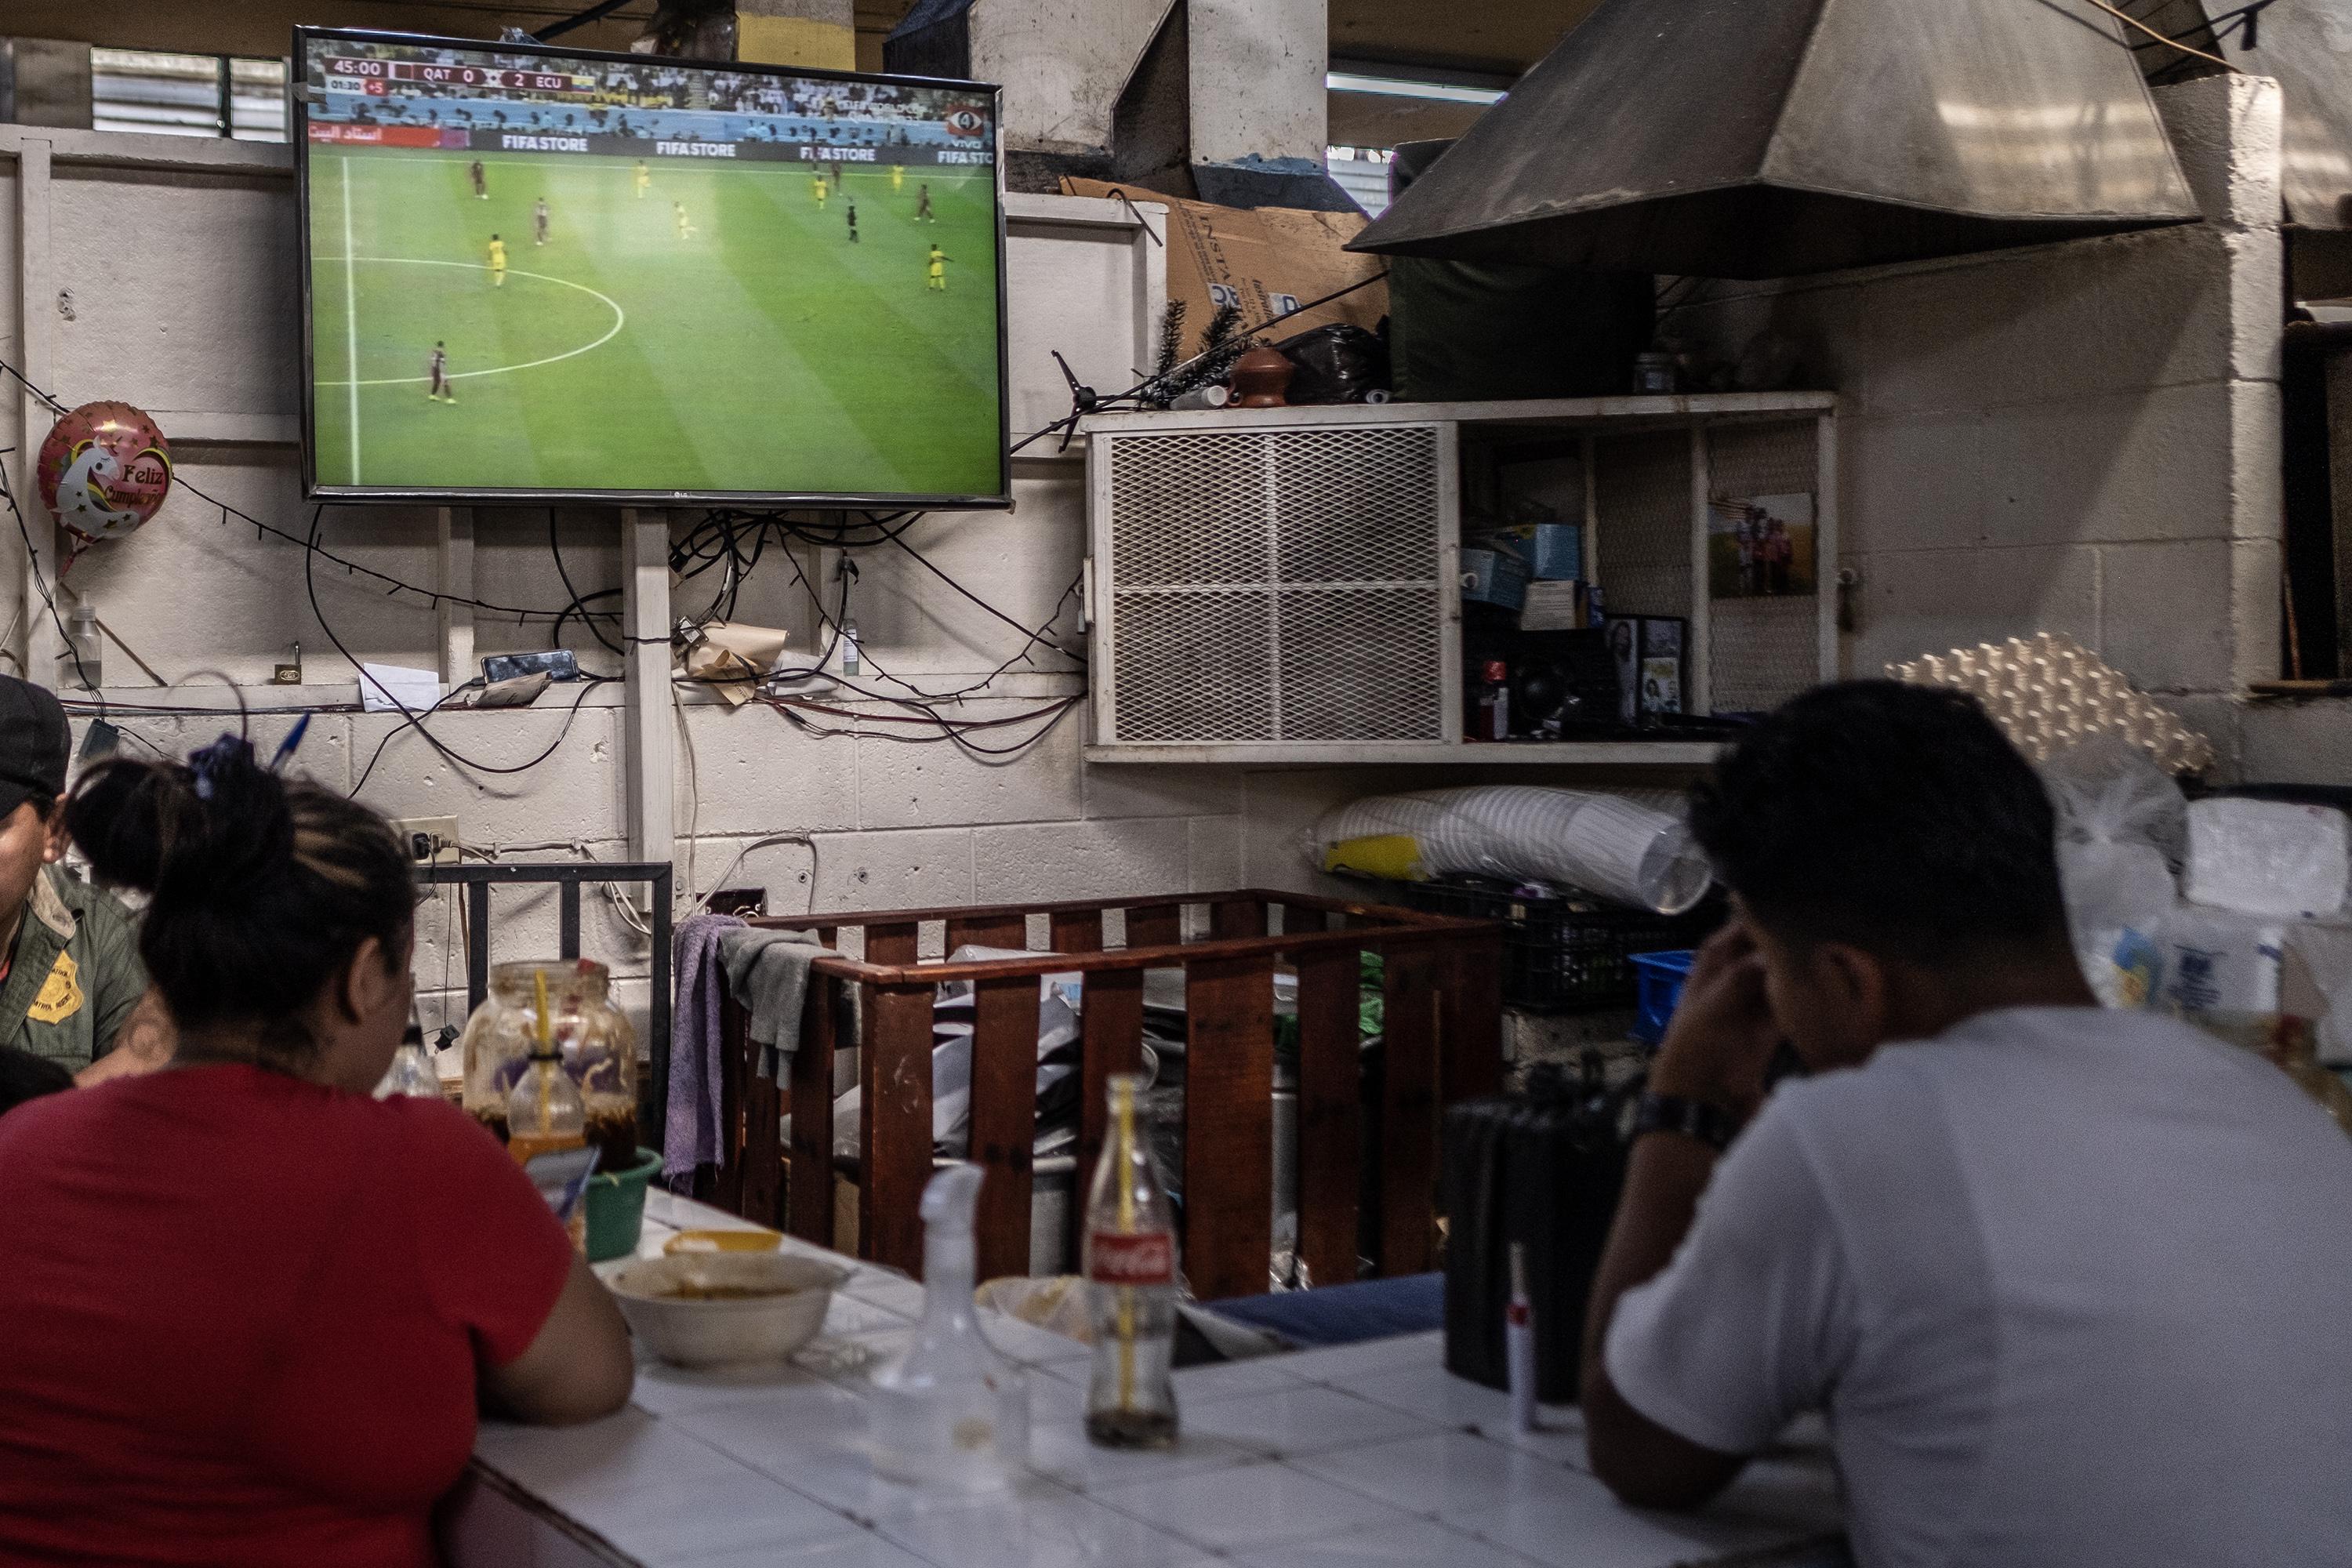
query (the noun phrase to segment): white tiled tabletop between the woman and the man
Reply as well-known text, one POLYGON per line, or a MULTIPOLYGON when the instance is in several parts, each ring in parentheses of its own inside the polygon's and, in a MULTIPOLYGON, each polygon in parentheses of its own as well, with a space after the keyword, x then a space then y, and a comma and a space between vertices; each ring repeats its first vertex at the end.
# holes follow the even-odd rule
MULTIPOLYGON (((739 1222, 654 1194, 644 1251, 673 1225, 739 1222)), ((866 1378, 906 1342, 922 1286, 818 1255, 851 1279, 793 1366, 644 1361, 635 1403, 593 1427, 485 1422, 449 1519, 454 1568, 1835 1561, 1818 1547, 1839 1521, 1818 1453, 1750 1467, 1705 1514, 1639 1514, 1585 1474, 1576 1410, 1512 1432, 1503 1394, 1446 1375, 1435 1333, 1176 1373, 1178 1446, 1112 1453, 1082 1429, 1087 1347, 990 1316, 1030 1368, 1033 1474, 993 1497, 880 1481, 866 1378)))

